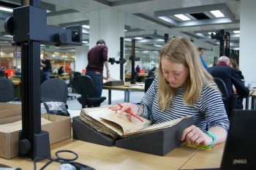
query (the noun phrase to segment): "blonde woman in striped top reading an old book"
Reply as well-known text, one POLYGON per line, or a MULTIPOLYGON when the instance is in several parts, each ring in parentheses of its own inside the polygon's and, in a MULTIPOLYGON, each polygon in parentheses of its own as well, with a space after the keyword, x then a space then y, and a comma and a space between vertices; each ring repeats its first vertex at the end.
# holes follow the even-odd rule
MULTIPOLYGON (((200 62, 197 49, 189 39, 172 39, 160 50, 159 77, 142 100, 109 109, 119 110, 120 114, 130 109, 152 123, 192 115, 193 125, 183 131, 181 140, 204 146, 225 142, 230 123, 222 96, 200 62)), ((132 121, 132 116, 129 119, 132 121)))

